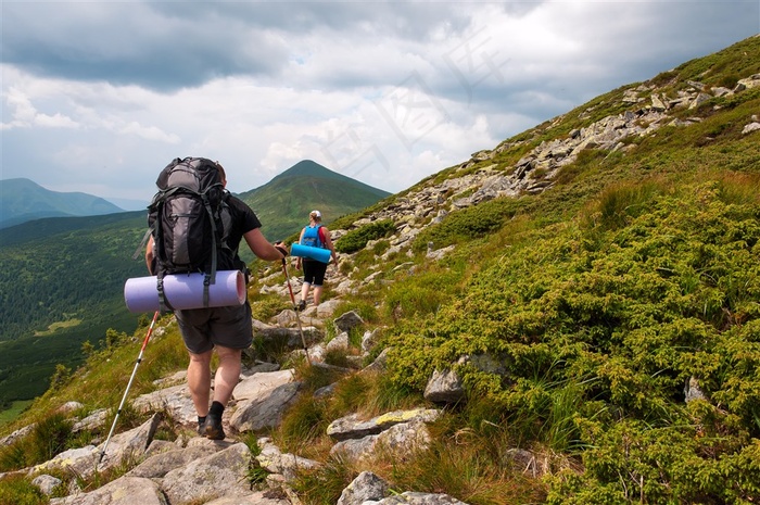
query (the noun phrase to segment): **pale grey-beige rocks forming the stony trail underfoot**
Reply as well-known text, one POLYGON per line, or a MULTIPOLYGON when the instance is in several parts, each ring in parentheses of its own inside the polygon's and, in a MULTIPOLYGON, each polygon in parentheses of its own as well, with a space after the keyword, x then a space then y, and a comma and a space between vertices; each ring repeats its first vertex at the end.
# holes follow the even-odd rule
MULTIPOLYGON (((308 348, 312 366, 325 366, 321 355, 328 349, 347 345, 347 331, 363 321, 355 313, 346 313, 332 320, 338 337, 328 344, 321 344, 325 321, 332 315, 338 299, 325 302, 319 307, 309 307, 301 313, 304 336, 311 342, 308 348)), ((266 339, 284 339, 293 352, 303 353, 301 334, 292 328, 296 313, 288 310, 276 319, 280 325, 266 325, 257 321, 256 331, 266 339)), ((172 318, 169 325, 176 324, 172 318)), ((154 338, 162 338, 166 327, 159 327, 154 338)), ((372 331, 364 336, 363 348, 369 351, 372 331)), ((382 367, 382 355, 364 369, 345 369, 344 373, 371 373, 382 367)), ((52 493, 61 480, 50 474, 61 471, 77 476, 73 479, 65 497, 51 498, 52 505, 96 505, 135 504, 141 505, 200 505, 200 504, 297 504, 299 498, 289 488, 299 470, 315 469, 320 463, 296 454, 282 453, 271 439, 257 440, 261 453, 253 455, 241 441, 246 432, 266 432, 275 428, 282 413, 300 394, 300 383, 293 369, 280 369, 274 363, 255 362, 245 367, 235 390, 232 401, 225 411, 223 424, 227 438, 221 441, 207 440, 197 435, 197 415, 185 381, 186 373, 180 371, 160 380, 157 389, 130 400, 135 409, 149 417, 141 426, 117 433, 111 439, 103 453, 104 441, 98 445, 87 445, 65 451, 53 459, 21 474, 35 476, 34 483, 43 492, 52 493), (180 435, 175 441, 155 438, 163 422, 180 425, 180 435), (123 477, 89 492, 78 488, 78 482, 91 479, 96 472, 104 474, 115 467, 134 466, 123 477), (251 471, 255 468, 266 472, 258 485, 252 485, 251 471), (54 471, 53 471, 54 470, 54 471)), ((213 386, 212 386, 213 387, 213 386)), ((330 394, 330 387, 314 394, 330 394)), ((81 407, 75 401, 66 403, 62 412, 73 412, 81 407)), ((438 418, 440 411, 417 408, 385 413, 371 419, 360 419, 356 415, 335 419, 328 428, 334 440, 331 454, 362 462, 371 457, 378 444, 390 447, 397 457, 418 450, 430 441, 426 424, 438 418)), ((103 433, 107 411, 100 409, 76 421, 74 431, 84 429, 103 433)), ((3 444, 23 437, 31 427, 17 430, 3 444)), ((371 472, 363 472, 343 493, 340 503, 460 503, 451 496, 403 493, 388 497, 388 483, 371 472), (400 501, 401 500, 401 501, 400 501)))

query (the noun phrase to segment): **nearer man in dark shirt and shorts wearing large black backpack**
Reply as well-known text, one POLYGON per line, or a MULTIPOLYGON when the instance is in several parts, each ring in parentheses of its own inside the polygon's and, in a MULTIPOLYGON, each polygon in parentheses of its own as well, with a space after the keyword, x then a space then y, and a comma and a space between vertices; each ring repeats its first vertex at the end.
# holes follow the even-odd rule
MULTIPOLYGON (((225 187, 227 178, 218 162, 202 157, 176 159, 156 181, 159 193, 149 207, 151 236, 145 264, 157 278, 162 305, 165 275, 205 273, 205 290, 216 272, 248 272, 238 255, 241 240, 266 261, 283 261, 288 251, 269 243, 261 222, 242 200, 225 187)), ((198 431, 212 440, 224 440, 221 415, 240 379, 242 351, 253 341, 251 305, 205 306, 173 310, 189 354, 188 387, 198 414, 198 431), (218 356, 211 397, 211 361, 218 356), (213 400, 211 406, 210 400, 213 400)))

